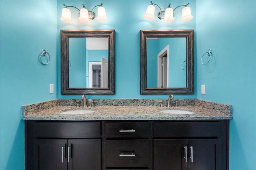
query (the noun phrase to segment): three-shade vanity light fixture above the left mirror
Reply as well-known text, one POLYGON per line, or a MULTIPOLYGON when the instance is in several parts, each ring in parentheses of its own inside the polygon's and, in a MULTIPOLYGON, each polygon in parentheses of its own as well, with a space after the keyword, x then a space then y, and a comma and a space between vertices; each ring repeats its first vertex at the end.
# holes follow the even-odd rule
MULTIPOLYGON (((71 11, 70 9, 68 9, 68 7, 73 7, 76 8, 75 6, 66 6, 65 4, 63 4, 65 7, 62 9, 62 17, 60 18, 60 20, 64 21, 64 22, 72 22, 71 19, 71 11)), ((81 8, 81 10, 79 10, 78 8, 76 8, 79 11, 79 18, 78 20, 82 23, 89 23, 90 20, 93 20, 95 18, 95 13, 93 12, 94 8, 98 7, 98 17, 96 18, 98 21, 107 21, 108 17, 106 16, 106 10, 105 8, 102 6, 103 3, 101 3, 100 5, 96 5, 92 8, 92 11, 88 11, 86 9, 86 7, 83 4, 83 8, 81 8)))

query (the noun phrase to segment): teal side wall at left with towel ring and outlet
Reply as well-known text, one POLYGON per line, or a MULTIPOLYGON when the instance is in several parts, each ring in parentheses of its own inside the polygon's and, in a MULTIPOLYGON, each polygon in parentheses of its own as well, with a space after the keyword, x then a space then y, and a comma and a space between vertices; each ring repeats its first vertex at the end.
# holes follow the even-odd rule
POLYGON ((56 8, 52 0, 0 0, 1 170, 24 169, 21 106, 57 97, 56 8), (38 59, 42 49, 51 57, 45 66, 38 59))

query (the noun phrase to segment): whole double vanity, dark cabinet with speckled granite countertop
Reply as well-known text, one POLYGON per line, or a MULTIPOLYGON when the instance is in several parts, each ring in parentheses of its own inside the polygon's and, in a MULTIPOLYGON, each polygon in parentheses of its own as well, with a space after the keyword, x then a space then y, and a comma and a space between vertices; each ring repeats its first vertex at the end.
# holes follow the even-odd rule
POLYGON ((232 106, 176 99, 168 108, 159 100, 98 99, 84 108, 82 100, 58 99, 22 106, 26 169, 228 169, 232 106))

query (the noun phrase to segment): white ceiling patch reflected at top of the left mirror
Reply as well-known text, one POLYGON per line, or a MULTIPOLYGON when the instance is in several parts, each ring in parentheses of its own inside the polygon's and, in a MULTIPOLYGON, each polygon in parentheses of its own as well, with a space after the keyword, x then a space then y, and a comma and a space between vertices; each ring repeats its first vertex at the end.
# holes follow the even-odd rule
POLYGON ((107 50, 108 38, 86 38, 86 49, 88 50, 107 50))

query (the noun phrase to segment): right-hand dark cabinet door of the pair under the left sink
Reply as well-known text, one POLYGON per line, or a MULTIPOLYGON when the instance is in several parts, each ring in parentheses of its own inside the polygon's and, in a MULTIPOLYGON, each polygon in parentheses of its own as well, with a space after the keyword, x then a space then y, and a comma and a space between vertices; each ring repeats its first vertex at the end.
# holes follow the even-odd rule
POLYGON ((100 139, 69 139, 68 170, 101 170, 100 139))

